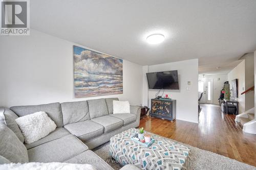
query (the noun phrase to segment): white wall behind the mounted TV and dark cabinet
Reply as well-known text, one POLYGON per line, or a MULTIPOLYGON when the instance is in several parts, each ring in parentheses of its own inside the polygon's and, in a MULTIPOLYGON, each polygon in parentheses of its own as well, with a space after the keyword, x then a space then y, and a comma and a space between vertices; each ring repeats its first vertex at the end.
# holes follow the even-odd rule
MULTIPOLYGON (((198 59, 148 66, 148 72, 178 70, 179 90, 165 90, 163 95, 177 100, 176 118, 198 123, 198 59), (191 85, 187 82, 190 81, 191 85)), ((147 85, 143 86, 147 89, 147 85)), ((155 98, 158 90, 148 90, 148 103, 155 98)), ((160 93, 162 94, 162 92, 160 93)), ((144 96, 143 96, 144 97, 144 96)))

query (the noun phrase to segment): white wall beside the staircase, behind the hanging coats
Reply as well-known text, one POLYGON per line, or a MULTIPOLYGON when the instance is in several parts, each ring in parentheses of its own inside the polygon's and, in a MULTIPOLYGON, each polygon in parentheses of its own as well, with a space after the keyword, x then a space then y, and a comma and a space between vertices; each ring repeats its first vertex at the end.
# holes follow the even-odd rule
POLYGON ((232 88, 231 82, 234 79, 238 79, 238 98, 239 102, 239 113, 243 113, 245 111, 245 95, 241 95, 241 93, 245 90, 245 61, 243 60, 239 63, 234 69, 232 69, 228 74, 228 82, 230 89, 232 88))

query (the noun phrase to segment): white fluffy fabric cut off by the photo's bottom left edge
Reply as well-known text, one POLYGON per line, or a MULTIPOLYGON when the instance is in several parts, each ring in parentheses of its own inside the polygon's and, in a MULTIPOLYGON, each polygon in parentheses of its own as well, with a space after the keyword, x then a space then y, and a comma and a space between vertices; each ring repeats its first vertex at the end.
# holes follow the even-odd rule
POLYGON ((0 165, 0 170, 96 170, 92 165, 89 164, 72 164, 72 163, 8 163, 0 165))

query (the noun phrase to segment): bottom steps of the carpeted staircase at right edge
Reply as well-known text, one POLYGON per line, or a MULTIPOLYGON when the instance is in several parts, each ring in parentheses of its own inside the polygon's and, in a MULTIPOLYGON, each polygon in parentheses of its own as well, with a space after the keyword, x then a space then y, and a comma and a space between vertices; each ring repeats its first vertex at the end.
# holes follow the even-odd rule
POLYGON ((243 125, 243 132, 256 134, 256 120, 254 117, 254 108, 236 116, 236 122, 243 125))

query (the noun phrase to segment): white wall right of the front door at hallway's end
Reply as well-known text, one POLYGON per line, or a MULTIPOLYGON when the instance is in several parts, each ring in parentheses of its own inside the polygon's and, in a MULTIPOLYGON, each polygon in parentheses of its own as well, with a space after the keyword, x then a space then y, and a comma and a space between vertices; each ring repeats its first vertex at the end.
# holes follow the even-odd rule
MULTIPOLYGON (((213 83, 213 92, 212 92, 212 97, 213 97, 213 103, 219 105, 219 97, 220 97, 220 91, 223 88, 224 82, 228 81, 227 79, 227 74, 223 75, 205 75, 205 79, 211 79, 213 83)), ((203 75, 199 75, 199 80, 203 80, 203 75)))

